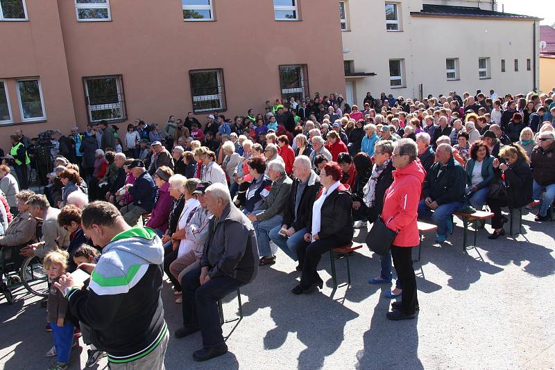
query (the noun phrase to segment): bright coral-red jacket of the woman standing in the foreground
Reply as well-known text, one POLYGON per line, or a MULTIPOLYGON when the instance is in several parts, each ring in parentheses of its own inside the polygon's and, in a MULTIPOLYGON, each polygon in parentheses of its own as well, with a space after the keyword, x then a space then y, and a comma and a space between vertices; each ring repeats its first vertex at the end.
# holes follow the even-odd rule
POLYGON ((393 184, 386 190, 382 220, 392 230, 399 230, 393 240, 397 247, 416 247, 418 233, 418 202, 426 172, 418 161, 393 171, 393 184))

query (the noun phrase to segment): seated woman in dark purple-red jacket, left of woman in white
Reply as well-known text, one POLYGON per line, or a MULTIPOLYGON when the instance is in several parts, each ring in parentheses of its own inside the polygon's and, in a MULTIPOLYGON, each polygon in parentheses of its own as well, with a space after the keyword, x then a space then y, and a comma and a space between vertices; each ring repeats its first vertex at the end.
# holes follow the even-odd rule
POLYGON ((171 211, 172 198, 169 194, 169 178, 173 176, 173 170, 168 166, 160 166, 154 173, 154 183, 158 190, 156 203, 145 226, 156 231, 158 236, 162 236, 168 228, 168 217, 171 211))

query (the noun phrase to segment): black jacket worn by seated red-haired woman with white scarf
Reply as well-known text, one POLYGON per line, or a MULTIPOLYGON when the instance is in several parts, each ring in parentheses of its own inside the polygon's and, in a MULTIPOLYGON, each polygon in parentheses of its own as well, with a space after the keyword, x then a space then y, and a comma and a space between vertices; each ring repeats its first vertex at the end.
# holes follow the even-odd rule
POLYGON ((320 214, 311 215, 307 232, 312 233, 312 218, 320 217, 320 231, 318 231, 320 239, 337 236, 343 240, 343 243, 350 243, 354 231, 351 208, 351 195, 341 184, 325 198, 320 214))

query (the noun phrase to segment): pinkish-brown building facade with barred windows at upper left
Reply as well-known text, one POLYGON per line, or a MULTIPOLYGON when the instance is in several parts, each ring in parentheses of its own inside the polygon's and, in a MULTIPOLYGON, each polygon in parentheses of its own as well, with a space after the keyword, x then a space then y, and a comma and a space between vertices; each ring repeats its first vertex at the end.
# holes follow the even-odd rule
POLYGON ((0 148, 17 129, 345 93, 334 0, 0 0, 0 148))

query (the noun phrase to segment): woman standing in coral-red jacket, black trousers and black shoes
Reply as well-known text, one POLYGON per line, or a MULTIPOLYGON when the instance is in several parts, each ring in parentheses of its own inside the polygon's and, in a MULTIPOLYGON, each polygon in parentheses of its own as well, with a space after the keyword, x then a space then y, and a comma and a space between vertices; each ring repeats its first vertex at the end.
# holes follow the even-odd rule
POLYGON ((411 139, 397 141, 393 149, 393 184, 386 190, 382 220, 389 229, 399 231, 391 245, 393 265, 403 290, 400 302, 391 304, 387 313, 391 320, 413 319, 418 310, 416 297, 416 276, 412 267, 412 248, 418 245, 418 202, 425 178, 425 170, 416 161, 418 147, 411 139))

